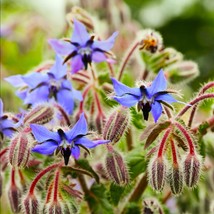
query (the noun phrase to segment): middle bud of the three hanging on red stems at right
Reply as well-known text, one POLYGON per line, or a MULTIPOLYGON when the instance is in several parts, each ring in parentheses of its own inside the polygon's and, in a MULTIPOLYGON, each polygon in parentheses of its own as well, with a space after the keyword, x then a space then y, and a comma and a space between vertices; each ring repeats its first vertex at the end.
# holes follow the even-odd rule
POLYGON ((178 165, 173 165, 173 167, 169 170, 168 180, 172 193, 179 195, 182 192, 184 185, 182 168, 178 165))

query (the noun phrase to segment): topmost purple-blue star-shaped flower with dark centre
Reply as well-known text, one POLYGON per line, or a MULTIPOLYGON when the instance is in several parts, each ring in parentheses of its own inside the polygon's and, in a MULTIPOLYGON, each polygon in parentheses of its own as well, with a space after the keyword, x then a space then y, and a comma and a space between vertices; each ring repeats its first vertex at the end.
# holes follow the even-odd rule
POLYGON ((66 56, 64 63, 72 58, 72 73, 88 68, 88 64, 109 60, 106 53, 113 47, 118 32, 114 32, 105 41, 94 41, 94 36, 88 34, 85 26, 74 19, 74 30, 71 40, 50 39, 49 44, 57 54, 66 56))

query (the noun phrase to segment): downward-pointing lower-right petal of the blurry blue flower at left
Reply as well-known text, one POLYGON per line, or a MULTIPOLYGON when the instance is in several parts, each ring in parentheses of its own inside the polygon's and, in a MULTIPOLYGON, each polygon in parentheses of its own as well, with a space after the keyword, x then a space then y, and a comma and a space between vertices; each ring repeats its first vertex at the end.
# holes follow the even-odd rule
POLYGON ((72 91, 60 89, 56 95, 57 101, 62 105, 68 114, 72 114, 74 109, 74 98, 72 91))

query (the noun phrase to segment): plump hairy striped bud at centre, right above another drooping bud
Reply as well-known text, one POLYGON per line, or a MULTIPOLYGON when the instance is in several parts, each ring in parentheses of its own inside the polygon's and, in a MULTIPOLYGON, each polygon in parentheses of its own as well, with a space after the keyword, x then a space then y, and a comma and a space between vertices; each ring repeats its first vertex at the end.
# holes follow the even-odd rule
POLYGON ((126 132, 131 121, 131 114, 128 108, 120 106, 108 117, 103 128, 104 140, 111 140, 117 143, 126 132))

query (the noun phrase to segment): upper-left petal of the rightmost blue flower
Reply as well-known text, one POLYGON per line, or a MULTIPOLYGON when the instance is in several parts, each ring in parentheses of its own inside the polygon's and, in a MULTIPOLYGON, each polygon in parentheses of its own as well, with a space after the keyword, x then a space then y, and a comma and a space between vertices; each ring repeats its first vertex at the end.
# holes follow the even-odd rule
POLYGON ((117 96, 122 96, 124 94, 132 94, 134 96, 142 96, 139 88, 130 88, 123 83, 117 81, 115 78, 111 78, 114 90, 117 96))

